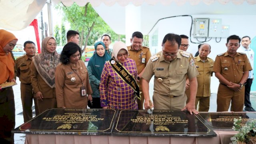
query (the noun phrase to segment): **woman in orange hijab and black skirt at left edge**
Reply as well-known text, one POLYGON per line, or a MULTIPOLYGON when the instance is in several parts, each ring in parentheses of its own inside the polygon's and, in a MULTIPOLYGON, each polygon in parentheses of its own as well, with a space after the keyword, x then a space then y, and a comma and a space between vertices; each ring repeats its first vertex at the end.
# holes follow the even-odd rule
MULTIPOLYGON (((0 30, 0 84, 16 82, 14 79, 14 58, 12 50, 18 39, 6 30, 0 30)), ((15 126, 15 103, 12 87, 0 86, 0 142, 14 144, 12 130, 15 126)))

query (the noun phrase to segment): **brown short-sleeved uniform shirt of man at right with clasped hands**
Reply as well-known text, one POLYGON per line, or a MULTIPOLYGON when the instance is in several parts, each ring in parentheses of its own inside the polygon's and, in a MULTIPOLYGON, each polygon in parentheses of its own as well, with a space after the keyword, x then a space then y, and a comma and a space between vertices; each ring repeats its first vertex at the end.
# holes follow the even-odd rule
POLYGON ((237 52, 232 57, 228 55, 228 52, 225 52, 216 56, 212 71, 220 72, 226 80, 238 84, 244 72, 249 70, 252 70, 252 67, 246 54, 237 52))

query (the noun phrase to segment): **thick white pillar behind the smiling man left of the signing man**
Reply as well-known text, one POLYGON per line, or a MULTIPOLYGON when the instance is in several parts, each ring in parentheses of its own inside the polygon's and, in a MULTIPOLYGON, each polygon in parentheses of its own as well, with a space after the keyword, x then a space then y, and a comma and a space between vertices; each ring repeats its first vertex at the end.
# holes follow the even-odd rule
POLYGON ((126 46, 131 44, 130 38, 132 38, 132 33, 141 30, 141 12, 140 6, 134 6, 133 4, 128 4, 125 7, 125 36, 126 36, 126 46))

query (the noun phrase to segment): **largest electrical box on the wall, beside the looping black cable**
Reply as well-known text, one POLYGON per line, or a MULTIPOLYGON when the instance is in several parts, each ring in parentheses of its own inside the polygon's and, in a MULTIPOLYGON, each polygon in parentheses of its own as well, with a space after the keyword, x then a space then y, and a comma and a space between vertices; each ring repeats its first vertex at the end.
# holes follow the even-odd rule
POLYGON ((194 37, 208 37, 209 18, 194 18, 194 37))

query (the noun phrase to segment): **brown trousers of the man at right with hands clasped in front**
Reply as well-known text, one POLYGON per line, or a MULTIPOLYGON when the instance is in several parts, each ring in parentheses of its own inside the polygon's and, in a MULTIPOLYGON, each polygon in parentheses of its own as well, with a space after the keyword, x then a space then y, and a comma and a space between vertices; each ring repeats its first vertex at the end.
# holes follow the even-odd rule
POLYGON ((244 108, 244 88, 240 92, 234 92, 227 86, 219 84, 217 93, 217 112, 226 112, 230 106, 230 111, 242 112, 244 108))

